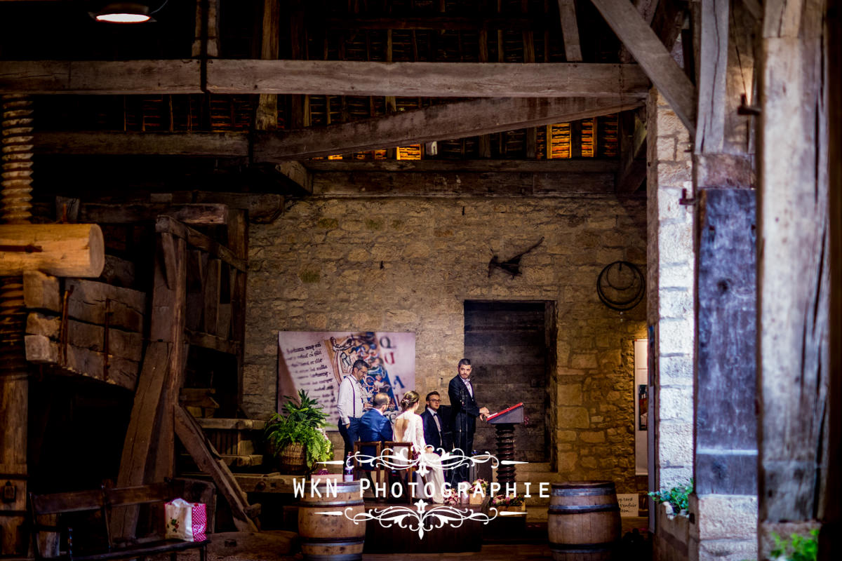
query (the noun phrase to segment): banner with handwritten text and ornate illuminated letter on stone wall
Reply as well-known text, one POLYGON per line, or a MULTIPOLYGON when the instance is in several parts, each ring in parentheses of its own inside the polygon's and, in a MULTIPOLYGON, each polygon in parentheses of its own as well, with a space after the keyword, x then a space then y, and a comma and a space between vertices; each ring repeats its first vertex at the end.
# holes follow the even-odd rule
POLYGON ((403 394, 415 389, 415 334, 374 331, 280 331, 278 333, 278 410, 285 395, 303 389, 338 423, 339 383, 357 359, 369 364, 361 384, 368 400, 389 395, 387 415, 397 413, 403 394))

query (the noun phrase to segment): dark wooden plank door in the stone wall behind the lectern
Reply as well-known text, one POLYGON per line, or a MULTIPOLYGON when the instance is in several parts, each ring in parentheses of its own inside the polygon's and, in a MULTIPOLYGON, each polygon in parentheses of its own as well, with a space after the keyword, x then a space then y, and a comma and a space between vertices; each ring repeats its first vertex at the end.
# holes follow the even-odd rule
MULTIPOLYGON (((524 403, 526 426, 514 431, 515 456, 546 462, 547 340, 552 304, 465 303, 465 357, 471 359, 477 400, 492 413, 524 403)), ((474 449, 496 453, 494 428, 477 421, 474 449)))

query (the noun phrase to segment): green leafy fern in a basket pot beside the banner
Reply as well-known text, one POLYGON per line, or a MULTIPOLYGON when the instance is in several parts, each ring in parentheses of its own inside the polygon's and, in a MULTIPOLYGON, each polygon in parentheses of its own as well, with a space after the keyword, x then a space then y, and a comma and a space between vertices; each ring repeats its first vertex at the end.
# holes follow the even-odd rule
POLYGON ((317 462, 333 458, 333 444, 324 431, 328 415, 304 390, 298 391, 297 400, 284 397, 283 413, 275 413, 266 422, 266 442, 278 456, 282 473, 312 472, 317 462))

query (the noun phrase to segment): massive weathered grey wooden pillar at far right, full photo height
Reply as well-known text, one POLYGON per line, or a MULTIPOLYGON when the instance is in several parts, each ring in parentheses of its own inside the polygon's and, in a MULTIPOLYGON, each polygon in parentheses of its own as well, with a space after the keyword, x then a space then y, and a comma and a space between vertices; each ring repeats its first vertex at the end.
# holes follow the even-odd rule
MULTIPOLYGON (((829 184, 824 0, 765 3, 760 41, 759 558, 806 533, 829 477, 829 184)), ((838 500, 834 498, 833 500, 838 500)))

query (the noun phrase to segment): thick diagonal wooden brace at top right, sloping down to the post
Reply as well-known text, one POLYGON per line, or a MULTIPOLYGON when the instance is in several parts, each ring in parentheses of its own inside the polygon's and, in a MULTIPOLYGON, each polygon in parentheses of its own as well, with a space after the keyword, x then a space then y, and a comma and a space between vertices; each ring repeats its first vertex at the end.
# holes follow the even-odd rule
POLYGON ((695 87, 628 0, 591 0, 675 114, 695 135, 695 87))

